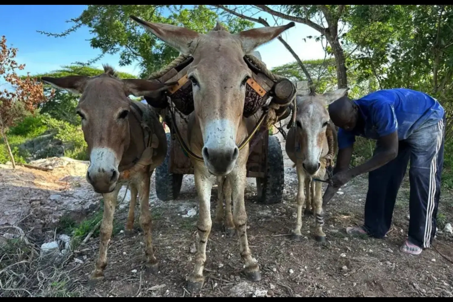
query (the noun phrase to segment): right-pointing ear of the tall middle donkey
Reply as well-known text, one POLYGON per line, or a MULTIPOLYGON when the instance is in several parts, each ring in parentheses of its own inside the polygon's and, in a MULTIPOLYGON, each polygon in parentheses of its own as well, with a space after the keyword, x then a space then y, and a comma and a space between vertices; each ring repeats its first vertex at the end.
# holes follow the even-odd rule
POLYGON ((249 29, 241 31, 235 36, 239 38, 242 43, 242 50, 244 53, 251 53, 258 46, 270 42, 270 40, 277 38, 286 29, 290 29, 295 24, 290 22, 283 26, 261 27, 258 29, 249 29))

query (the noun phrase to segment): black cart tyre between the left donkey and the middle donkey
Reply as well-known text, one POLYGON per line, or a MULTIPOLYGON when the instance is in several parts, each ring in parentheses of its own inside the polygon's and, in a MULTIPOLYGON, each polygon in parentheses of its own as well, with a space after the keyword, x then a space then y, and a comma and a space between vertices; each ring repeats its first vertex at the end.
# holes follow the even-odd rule
POLYGON ((156 195, 162 201, 169 201, 176 199, 181 191, 184 174, 169 173, 169 160, 171 148, 171 134, 166 133, 167 136, 167 155, 164 162, 161 163, 154 172, 156 175, 156 195))

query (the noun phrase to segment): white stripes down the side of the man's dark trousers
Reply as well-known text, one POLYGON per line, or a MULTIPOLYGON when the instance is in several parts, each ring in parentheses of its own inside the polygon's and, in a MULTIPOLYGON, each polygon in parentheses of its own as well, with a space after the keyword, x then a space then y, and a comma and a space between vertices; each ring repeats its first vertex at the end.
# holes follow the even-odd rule
POLYGON ((436 174, 437 174, 437 157, 442 145, 443 138, 443 120, 439 120, 437 124, 439 129, 439 134, 437 136, 436 144, 436 153, 434 153, 433 158, 431 159, 431 166, 429 169, 429 190, 428 190, 428 202, 426 205, 426 217, 425 217, 425 227, 424 227, 424 238, 423 238, 423 247, 429 247, 429 241, 431 240, 431 233, 433 231, 433 212, 435 207, 434 198, 436 196, 437 186, 436 186, 436 174))

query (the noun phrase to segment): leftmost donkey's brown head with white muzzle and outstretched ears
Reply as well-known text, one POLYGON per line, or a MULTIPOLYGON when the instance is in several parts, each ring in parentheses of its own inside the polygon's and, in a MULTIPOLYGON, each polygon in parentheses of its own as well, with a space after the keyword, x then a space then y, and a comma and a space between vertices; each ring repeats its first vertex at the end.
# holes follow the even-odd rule
POLYGON ((41 77, 41 80, 81 94, 77 114, 82 118, 82 131, 88 145, 90 166, 87 181, 97 193, 115 189, 118 166, 130 144, 129 95, 148 96, 169 87, 141 79, 119 79, 112 67, 95 77, 41 77))

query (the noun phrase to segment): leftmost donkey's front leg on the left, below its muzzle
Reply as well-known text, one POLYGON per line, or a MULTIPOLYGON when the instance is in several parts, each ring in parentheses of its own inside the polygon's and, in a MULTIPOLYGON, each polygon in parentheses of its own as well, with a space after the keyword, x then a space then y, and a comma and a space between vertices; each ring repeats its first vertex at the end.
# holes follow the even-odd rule
POLYGON ((120 192, 121 187, 122 185, 118 184, 113 192, 103 194, 104 215, 102 216, 101 229, 99 230, 99 256, 90 277, 91 284, 104 278, 104 268, 107 266, 107 245, 112 235, 116 198, 118 198, 118 192, 120 192))

